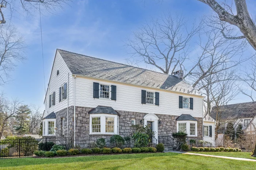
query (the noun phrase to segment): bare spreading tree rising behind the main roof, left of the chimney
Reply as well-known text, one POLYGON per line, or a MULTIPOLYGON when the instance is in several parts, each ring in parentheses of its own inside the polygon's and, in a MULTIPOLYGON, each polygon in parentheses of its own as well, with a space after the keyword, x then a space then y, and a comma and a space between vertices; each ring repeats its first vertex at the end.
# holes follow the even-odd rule
POLYGON ((190 52, 189 42, 199 29, 195 23, 189 29, 187 20, 179 15, 173 17, 167 13, 159 20, 152 18, 132 32, 132 39, 127 39, 128 54, 131 54, 128 63, 145 62, 165 74, 184 70, 183 63, 190 52))

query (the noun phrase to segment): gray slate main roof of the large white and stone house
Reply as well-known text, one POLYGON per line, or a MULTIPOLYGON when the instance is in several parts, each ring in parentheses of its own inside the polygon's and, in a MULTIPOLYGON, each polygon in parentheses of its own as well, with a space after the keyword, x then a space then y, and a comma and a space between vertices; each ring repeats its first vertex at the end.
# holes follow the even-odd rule
POLYGON ((195 88, 174 75, 57 50, 72 74, 200 95, 195 88))

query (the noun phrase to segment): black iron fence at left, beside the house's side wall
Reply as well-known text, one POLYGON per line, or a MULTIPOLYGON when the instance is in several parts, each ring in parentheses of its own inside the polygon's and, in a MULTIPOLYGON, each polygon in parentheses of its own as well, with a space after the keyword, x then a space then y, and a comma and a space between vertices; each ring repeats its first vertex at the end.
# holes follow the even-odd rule
POLYGON ((63 145, 66 150, 72 148, 71 138, 41 138, 0 140, 0 158, 30 157, 34 151, 49 151, 53 145, 63 145))

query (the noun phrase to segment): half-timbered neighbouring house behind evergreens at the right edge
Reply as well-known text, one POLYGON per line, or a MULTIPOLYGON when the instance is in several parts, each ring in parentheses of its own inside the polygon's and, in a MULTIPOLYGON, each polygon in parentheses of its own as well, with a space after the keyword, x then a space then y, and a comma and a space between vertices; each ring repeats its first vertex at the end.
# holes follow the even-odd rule
MULTIPOLYGON (((221 128, 219 128, 218 133, 225 134, 226 124, 227 122, 232 122, 234 129, 236 131, 239 123, 242 124, 243 130, 246 133, 255 134, 256 129, 256 102, 246 102, 246 103, 237 103, 237 104, 228 104, 222 106, 219 109, 221 113, 220 124, 222 124, 221 128)), ((216 119, 216 108, 212 108, 210 116, 216 119)))

